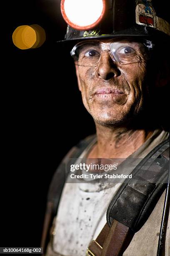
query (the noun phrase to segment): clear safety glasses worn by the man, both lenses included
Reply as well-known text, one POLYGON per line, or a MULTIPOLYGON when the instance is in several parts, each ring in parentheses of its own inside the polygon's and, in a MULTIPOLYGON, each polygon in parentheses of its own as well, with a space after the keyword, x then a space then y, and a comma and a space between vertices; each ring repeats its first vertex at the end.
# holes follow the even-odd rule
POLYGON ((76 44, 70 51, 75 61, 75 65, 83 67, 96 67, 100 61, 102 52, 107 51, 112 61, 121 65, 132 64, 150 59, 152 43, 145 40, 144 42, 121 40, 106 43, 99 40, 87 40, 76 44))

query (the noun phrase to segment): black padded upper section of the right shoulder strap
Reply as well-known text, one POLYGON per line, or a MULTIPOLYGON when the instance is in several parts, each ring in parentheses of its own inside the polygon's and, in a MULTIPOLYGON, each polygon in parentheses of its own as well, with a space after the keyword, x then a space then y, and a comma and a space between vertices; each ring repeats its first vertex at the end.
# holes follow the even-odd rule
POLYGON ((122 184, 107 209, 109 226, 115 219, 134 232, 140 230, 165 190, 168 159, 164 155, 167 151, 169 139, 155 147, 136 166, 132 172, 133 182, 129 179, 122 184))

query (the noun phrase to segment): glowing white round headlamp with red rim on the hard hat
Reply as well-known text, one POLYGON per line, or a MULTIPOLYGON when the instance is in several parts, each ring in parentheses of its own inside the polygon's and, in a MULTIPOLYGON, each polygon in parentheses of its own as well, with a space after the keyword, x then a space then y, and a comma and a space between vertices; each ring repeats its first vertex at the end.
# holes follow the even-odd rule
POLYGON ((61 0, 61 13, 69 26, 90 30, 105 13, 105 0, 61 0))

